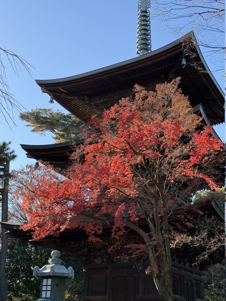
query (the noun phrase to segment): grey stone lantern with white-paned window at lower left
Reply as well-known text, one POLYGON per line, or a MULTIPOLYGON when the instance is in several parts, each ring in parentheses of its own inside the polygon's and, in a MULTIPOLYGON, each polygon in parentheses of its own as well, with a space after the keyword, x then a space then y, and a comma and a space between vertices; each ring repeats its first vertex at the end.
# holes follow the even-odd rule
POLYGON ((43 268, 36 266, 33 276, 42 279, 40 298, 37 301, 64 301, 65 282, 67 279, 74 279, 74 270, 68 269, 61 265, 59 251, 52 251, 50 264, 44 265, 43 268))

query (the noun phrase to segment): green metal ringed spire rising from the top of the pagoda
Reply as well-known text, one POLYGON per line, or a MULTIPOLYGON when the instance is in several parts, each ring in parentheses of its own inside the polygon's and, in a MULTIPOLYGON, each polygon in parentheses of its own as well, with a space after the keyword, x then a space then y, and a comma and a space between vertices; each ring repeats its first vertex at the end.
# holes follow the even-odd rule
POLYGON ((148 8, 150 0, 138 0, 138 23, 137 23, 137 55, 152 51, 151 44, 151 20, 148 8))

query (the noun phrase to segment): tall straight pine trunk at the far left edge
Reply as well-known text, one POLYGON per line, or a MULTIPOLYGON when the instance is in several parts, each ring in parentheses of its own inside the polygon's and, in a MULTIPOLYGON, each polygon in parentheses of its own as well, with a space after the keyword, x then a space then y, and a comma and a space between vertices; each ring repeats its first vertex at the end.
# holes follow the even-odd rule
MULTIPOLYGON (((9 174, 9 161, 6 162, 4 167, 4 174, 9 174)), ((3 188, 1 188, 1 196, 2 196, 2 222, 8 221, 8 185, 9 178, 6 176, 3 182, 3 188)), ((0 300, 5 301, 7 298, 7 281, 5 275, 5 261, 8 250, 8 237, 5 235, 5 229, 1 229, 2 234, 2 244, 0 251, 0 300)))

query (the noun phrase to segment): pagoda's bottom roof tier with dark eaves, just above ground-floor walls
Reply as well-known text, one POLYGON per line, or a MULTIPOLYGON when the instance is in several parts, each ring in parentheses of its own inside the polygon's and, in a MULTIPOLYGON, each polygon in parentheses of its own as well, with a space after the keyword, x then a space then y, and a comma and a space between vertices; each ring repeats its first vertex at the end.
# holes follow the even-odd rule
MULTIPOLYGON (((178 209, 175 210, 175 213, 178 209)), ((181 209, 180 209, 181 210, 181 209)), ((203 201, 198 204, 193 204, 187 207, 186 213, 190 216, 199 216, 200 211, 202 211, 205 216, 211 217, 216 216, 221 221, 224 220, 224 214, 219 209, 218 205, 214 200, 203 201)), ((180 213, 179 213, 180 214, 180 213)), ((178 219, 176 219, 178 221, 178 219)), ((172 222, 174 225, 174 216, 171 217, 169 223, 172 222)), ((15 222, 1 222, 2 228, 6 230, 7 237, 18 238, 21 240, 29 241, 32 239, 32 231, 23 231, 20 229, 20 223, 15 222)), ((148 229, 146 225, 146 220, 140 220, 139 226, 144 230, 148 229)), ((111 256, 108 253, 108 248, 115 244, 117 241, 115 238, 111 237, 112 222, 109 225, 103 227, 103 233, 100 234, 102 241, 99 242, 90 242, 86 233, 80 229, 67 229, 62 231, 57 237, 46 236, 41 240, 31 240, 30 243, 40 245, 44 248, 51 248, 59 250, 61 252, 67 253, 69 257, 76 257, 83 264, 92 264, 93 255, 102 254, 104 256, 105 264, 111 264, 120 262, 120 259, 111 256)), ((143 241, 141 237, 135 231, 128 231, 129 233, 123 238, 121 246, 138 243, 142 244, 143 241)), ((193 260, 197 255, 202 252, 201 248, 193 247, 190 245, 183 245, 181 249, 172 249, 172 259, 176 261, 180 260, 186 262, 186 260, 193 260), (193 259, 192 259, 193 258, 193 259)), ((98 255, 100 256, 100 255, 98 255)), ((208 266, 211 266, 215 263, 222 263, 224 259, 224 251, 217 250, 215 253, 210 255, 210 258, 204 260, 200 269, 206 269, 208 266)), ((180 262, 179 262, 180 263, 180 262)), ((192 261, 190 262, 192 263, 192 261)))

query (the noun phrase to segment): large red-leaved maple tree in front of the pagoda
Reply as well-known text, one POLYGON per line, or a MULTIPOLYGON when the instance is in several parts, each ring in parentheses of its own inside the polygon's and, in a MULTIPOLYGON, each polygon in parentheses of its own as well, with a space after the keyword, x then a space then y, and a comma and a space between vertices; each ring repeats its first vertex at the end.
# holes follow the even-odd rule
POLYGON ((170 301, 168 220, 176 206, 186 206, 187 196, 203 187, 217 189, 222 151, 212 129, 193 114, 179 82, 159 84, 154 92, 136 85, 134 100, 123 98, 93 121, 66 177, 50 172, 32 184, 22 203, 29 216, 23 228, 33 230, 34 239, 80 227, 98 241, 111 219, 117 239, 133 229, 143 244, 128 247, 148 254, 147 272, 162 299, 170 301), (140 218, 148 231, 139 226, 140 218))

